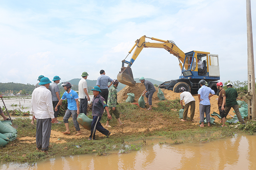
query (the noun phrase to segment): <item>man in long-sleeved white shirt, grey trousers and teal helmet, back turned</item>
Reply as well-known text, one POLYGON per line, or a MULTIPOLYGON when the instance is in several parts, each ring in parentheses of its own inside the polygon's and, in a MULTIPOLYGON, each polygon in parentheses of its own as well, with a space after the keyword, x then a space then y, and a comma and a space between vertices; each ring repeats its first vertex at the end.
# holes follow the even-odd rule
POLYGON ((35 134, 37 150, 47 152, 49 149, 52 123, 55 122, 52 106, 52 94, 48 90, 51 81, 49 78, 42 78, 39 85, 32 92, 31 113, 37 119, 37 132, 35 134))

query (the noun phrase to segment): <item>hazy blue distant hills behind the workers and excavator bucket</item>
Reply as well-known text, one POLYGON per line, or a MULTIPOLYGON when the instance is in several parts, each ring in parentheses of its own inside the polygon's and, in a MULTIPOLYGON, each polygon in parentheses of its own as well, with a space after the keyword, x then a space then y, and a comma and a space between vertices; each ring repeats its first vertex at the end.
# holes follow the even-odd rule
MULTIPOLYGON (((151 79, 151 78, 145 78, 145 79, 150 81, 151 83, 157 84, 157 85, 164 83, 162 81, 157 81, 157 80, 154 80, 154 79, 151 79)), ((79 81, 80 81, 80 79, 72 79, 72 80, 69 81, 69 83, 75 85, 75 86, 72 87, 73 90, 78 91, 79 81)), ((134 81, 136 81, 137 83, 140 83, 139 78, 134 79, 134 81)), ((97 80, 88 80, 88 79, 86 79, 86 82, 87 82, 88 91, 90 91, 94 86, 96 86, 97 80)), ((117 91, 122 90, 125 86, 126 86, 125 84, 119 83, 117 91)))

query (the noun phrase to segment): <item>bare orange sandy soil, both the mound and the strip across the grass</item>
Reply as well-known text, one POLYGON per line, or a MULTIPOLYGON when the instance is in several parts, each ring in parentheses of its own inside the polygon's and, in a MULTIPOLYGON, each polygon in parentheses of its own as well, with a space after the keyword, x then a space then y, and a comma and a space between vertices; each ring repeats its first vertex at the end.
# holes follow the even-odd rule
MULTIPOLYGON (((124 87, 124 89, 122 89, 121 91, 119 91, 117 93, 117 102, 125 102, 125 100, 127 99, 127 93, 134 93, 135 94, 135 100, 134 103, 138 103, 138 99, 139 97, 141 97, 142 92, 145 90, 145 86, 144 84, 141 83, 137 83, 136 84, 137 87, 133 88, 133 87, 129 87, 126 86, 124 87)), ((157 92, 158 92, 158 88, 156 88, 156 92, 154 93, 153 97, 152 97, 152 106, 153 107, 157 107, 157 102, 159 102, 159 99, 157 97, 157 92)), ((166 89, 161 89, 162 92, 164 92, 164 96, 166 97, 166 99, 168 100, 174 100, 174 99, 180 99, 180 93, 174 93, 173 91, 169 91, 166 89)), ((193 95, 195 100, 196 100, 196 111, 195 111, 195 115, 194 115, 194 123, 193 124, 199 124, 199 100, 196 95, 193 95)), ((211 113, 212 112, 217 112, 218 111, 218 105, 217 105, 217 99, 218 96, 214 95, 211 97, 211 113)), ((145 99, 146 101, 146 99, 145 99)), ((139 106, 138 106, 139 107, 139 106)), ((149 106, 146 105, 146 107, 148 108, 149 106)), ((146 108, 139 108, 140 112, 151 112, 151 111, 146 111, 146 108)), ((235 114, 233 113, 233 109, 231 109, 231 111, 229 112, 229 114, 231 114, 232 116, 234 116, 235 114)), ((167 125, 170 125, 170 122, 166 122, 165 120, 162 120, 161 116, 159 116, 158 114, 152 114, 152 117, 154 118, 152 120, 152 122, 150 122, 149 124, 144 123, 144 122, 140 122, 140 123, 134 123, 131 122, 130 120, 122 120, 122 116, 121 116, 121 120, 124 123, 124 125, 120 126, 120 125, 112 125, 112 123, 110 122, 110 125, 112 125, 112 127, 110 128, 106 128, 104 124, 103 127, 105 127, 106 129, 110 130, 111 135, 115 135, 115 134, 132 134, 134 132, 144 132, 144 131, 151 131, 151 130, 155 130, 155 129, 161 129, 167 125)), ((190 110, 188 112, 188 117, 190 117, 190 110)), ((231 116, 227 116, 228 118, 230 118, 231 116)), ((218 119, 217 116, 214 116, 214 118, 216 119, 215 122, 219 122, 220 119, 218 119)), ((70 118, 70 120, 72 121, 72 118, 70 118)), ((174 126, 176 127, 176 130, 184 130, 187 129, 189 127, 187 127, 187 125, 182 122, 179 121, 178 123, 176 122, 174 124, 174 126)), ((56 132, 54 130, 52 130, 51 132, 51 137, 50 137, 50 142, 54 142, 54 143, 65 143, 65 139, 78 139, 78 138, 89 138, 90 136, 90 131, 87 129, 84 129, 84 127, 82 127, 80 125, 80 129, 82 134, 79 136, 75 136, 76 131, 74 127, 70 127, 71 130, 71 134, 70 135, 66 135, 66 134, 62 134, 62 132, 56 132)), ((111 136, 110 135, 110 136, 111 136)), ((101 134, 100 132, 96 131, 95 134, 96 138, 97 137, 103 137, 104 135, 101 134)), ((22 137, 19 138, 18 140, 21 140, 22 142, 25 143, 35 143, 35 138, 33 137, 22 137)))

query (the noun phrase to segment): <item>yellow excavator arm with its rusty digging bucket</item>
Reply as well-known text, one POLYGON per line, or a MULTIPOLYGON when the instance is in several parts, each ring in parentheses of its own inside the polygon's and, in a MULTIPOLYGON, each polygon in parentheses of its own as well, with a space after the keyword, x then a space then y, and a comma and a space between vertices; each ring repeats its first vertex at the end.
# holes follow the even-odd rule
POLYGON ((179 60, 179 66, 182 69, 182 63, 184 63, 185 60, 185 53, 181 51, 176 44, 173 41, 169 40, 160 40, 157 38, 151 38, 147 37, 146 35, 142 36, 140 39, 135 41, 134 46, 129 51, 129 54, 126 56, 124 60, 122 60, 122 68, 119 74, 117 75, 117 79, 120 83, 126 84, 128 86, 135 86, 136 81, 134 81, 133 75, 132 75, 132 69, 131 66, 138 57, 139 53, 141 53, 141 50, 143 48, 164 48, 167 50, 170 54, 173 54, 176 56, 179 60), (149 38, 151 40, 159 41, 161 43, 150 43, 146 42, 145 39, 149 38), (125 59, 136 47, 134 53, 132 54, 132 58, 130 61, 126 61, 125 59), (124 64, 128 64, 127 67, 124 67, 124 64))

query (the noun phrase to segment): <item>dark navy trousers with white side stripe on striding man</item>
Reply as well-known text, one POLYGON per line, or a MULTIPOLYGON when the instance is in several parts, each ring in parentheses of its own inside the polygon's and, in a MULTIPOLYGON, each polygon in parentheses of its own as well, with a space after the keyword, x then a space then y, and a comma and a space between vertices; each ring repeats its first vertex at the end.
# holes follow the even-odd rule
POLYGON ((100 133, 104 134, 104 135, 108 135, 109 134, 109 130, 105 129, 101 123, 100 123, 100 116, 93 116, 92 117, 92 125, 91 125, 91 135, 90 138, 95 140, 95 131, 98 130, 100 133))

